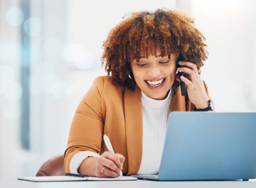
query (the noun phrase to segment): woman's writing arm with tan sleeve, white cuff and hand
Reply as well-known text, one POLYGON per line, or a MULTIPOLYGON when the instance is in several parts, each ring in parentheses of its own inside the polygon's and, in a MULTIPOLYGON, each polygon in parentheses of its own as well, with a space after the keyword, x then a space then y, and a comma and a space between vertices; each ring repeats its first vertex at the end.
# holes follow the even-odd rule
POLYGON ((100 76, 94 80, 77 107, 64 153, 66 172, 77 173, 78 170, 81 174, 107 178, 118 177, 123 169, 123 155, 109 151, 101 152, 104 132, 102 89, 103 78, 100 76), (87 157, 88 154, 92 157, 87 157))

